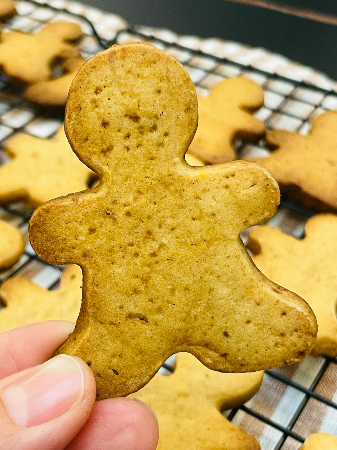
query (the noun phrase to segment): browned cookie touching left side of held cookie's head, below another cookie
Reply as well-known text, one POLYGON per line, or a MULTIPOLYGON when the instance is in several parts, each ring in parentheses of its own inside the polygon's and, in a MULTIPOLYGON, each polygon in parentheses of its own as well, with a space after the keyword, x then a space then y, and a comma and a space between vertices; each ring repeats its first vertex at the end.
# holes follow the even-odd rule
POLYGON ((26 99, 42 106, 64 106, 71 82, 84 61, 83 58, 67 59, 63 64, 67 70, 64 75, 28 86, 24 93, 26 99))

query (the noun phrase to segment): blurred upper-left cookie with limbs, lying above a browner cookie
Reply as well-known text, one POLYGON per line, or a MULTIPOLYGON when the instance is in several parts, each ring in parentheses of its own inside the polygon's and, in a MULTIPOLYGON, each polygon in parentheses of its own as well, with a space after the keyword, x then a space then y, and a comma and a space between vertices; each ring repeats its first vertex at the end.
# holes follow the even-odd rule
POLYGON ((53 22, 35 34, 9 31, 0 36, 0 66, 9 76, 37 83, 51 76, 56 58, 79 57, 80 51, 67 41, 82 36, 77 23, 53 22))

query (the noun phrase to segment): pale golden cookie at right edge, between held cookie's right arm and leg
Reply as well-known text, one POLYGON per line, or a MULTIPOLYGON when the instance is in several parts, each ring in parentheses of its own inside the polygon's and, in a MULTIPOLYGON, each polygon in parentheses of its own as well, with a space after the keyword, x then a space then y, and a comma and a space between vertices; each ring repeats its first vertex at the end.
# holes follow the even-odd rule
POLYGON ((315 313, 318 333, 314 356, 337 356, 337 216, 319 214, 296 239, 262 225, 252 229, 248 247, 253 261, 275 283, 303 297, 315 313))

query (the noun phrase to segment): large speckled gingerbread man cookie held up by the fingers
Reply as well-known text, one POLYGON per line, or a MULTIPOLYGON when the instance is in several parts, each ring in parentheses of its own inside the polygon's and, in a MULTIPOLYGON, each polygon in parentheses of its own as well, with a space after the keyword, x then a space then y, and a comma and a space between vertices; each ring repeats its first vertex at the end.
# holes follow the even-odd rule
POLYGON ((196 125, 191 78, 151 45, 114 45, 71 85, 66 133, 101 181, 37 208, 30 238, 46 261, 83 269, 80 316, 58 352, 90 363, 98 399, 135 392, 178 351, 249 372, 314 344, 309 306, 266 279, 239 239, 274 214, 275 180, 243 161, 188 166, 196 125))

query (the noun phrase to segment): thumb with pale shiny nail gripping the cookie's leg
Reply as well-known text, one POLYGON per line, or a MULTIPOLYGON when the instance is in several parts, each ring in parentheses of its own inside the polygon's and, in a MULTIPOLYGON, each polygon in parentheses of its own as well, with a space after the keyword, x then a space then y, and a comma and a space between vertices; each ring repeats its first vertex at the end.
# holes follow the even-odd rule
POLYGON ((63 450, 89 418, 95 380, 80 358, 58 355, 0 381, 0 450, 63 450))

